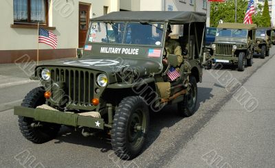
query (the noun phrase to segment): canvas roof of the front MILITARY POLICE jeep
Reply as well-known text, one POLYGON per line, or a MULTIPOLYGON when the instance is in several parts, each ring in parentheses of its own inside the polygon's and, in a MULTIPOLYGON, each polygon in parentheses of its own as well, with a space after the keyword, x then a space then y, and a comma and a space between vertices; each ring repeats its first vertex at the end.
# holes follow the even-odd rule
POLYGON ((206 14, 185 11, 122 11, 111 12, 91 21, 167 21, 169 23, 206 22, 206 14))

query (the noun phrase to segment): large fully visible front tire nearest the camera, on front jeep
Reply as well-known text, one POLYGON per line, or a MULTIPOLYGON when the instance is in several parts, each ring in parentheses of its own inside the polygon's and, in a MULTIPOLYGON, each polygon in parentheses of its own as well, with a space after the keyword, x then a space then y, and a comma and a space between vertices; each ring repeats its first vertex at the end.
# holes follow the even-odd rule
POLYGON ((115 154, 123 160, 135 158, 144 146, 148 125, 149 111, 144 99, 140 96, 122 99, 115 110, 111 130, 111 145, 115 154))

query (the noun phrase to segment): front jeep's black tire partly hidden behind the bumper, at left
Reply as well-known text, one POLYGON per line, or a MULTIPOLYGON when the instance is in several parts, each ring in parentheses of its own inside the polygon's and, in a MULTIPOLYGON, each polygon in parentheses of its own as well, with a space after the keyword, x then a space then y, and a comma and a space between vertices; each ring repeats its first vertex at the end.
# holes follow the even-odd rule
MULTIPOLYGON (((21 106, 28 108, 36 108, 42 104, 45 104, 44 88, 38 87, 30 91, 23 99, 21 106)), ((29 117, 19 116, 19 128, 23 136, 33 143, 45 143, 56 137, 60 125, 54 123, 42 123, 41 126, 33 128, 32 123, 38 123, 34 119, 29 117)))

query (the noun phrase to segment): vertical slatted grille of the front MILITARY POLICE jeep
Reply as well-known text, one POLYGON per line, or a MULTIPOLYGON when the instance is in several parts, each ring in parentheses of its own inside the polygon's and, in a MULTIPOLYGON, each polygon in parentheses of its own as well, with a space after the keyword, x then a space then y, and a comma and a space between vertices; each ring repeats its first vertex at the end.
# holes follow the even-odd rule
POLYGON ((73 104, 91 104, 94 97, 94 74, 85 70, 65 68, 50 69, 52 82, 65 82, 71 102, 73 104))

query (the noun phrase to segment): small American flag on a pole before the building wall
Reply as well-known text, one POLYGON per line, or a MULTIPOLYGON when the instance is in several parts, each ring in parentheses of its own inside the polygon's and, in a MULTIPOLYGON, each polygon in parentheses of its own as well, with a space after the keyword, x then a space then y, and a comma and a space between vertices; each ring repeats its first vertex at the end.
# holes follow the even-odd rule
POLYGON ((39 43, 45 43, 52 46, 54 49, 57 47, 57 36, 47 29, 39 28, 39 43))

